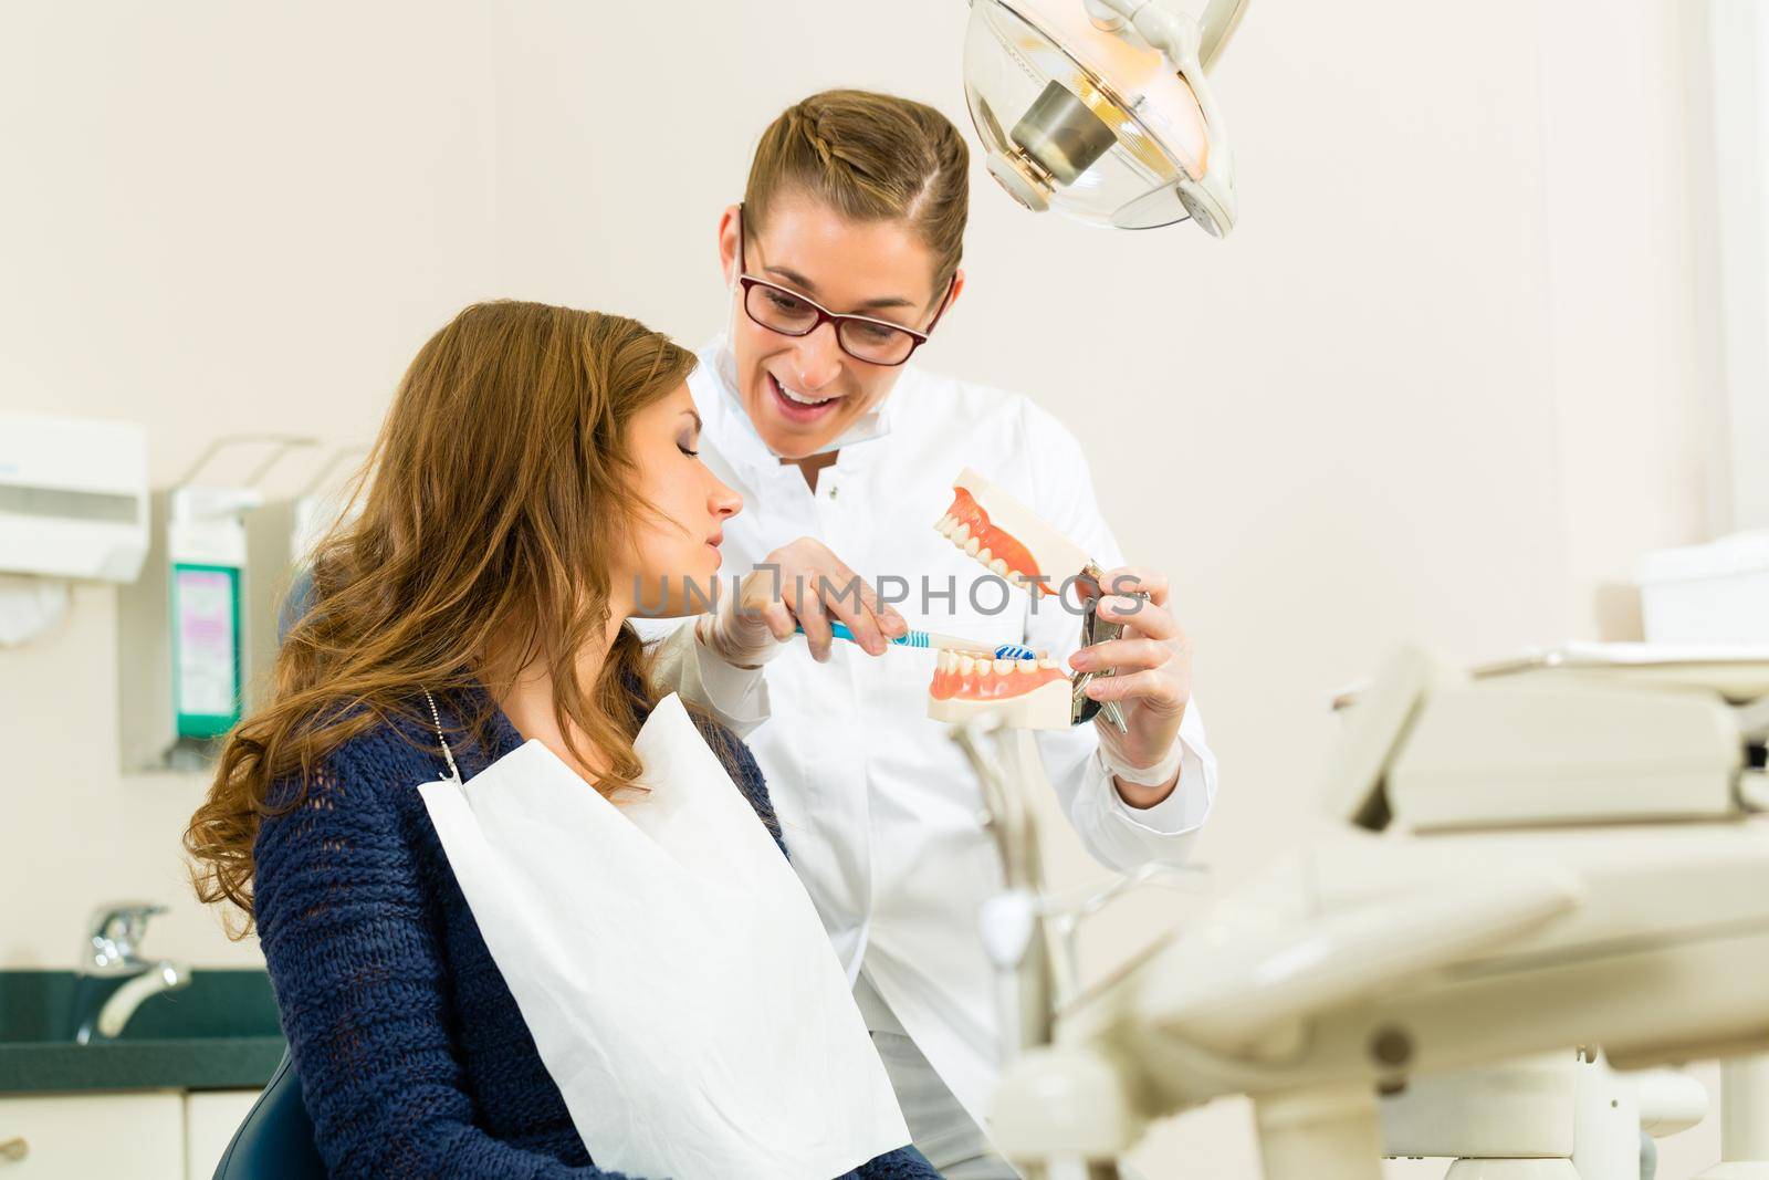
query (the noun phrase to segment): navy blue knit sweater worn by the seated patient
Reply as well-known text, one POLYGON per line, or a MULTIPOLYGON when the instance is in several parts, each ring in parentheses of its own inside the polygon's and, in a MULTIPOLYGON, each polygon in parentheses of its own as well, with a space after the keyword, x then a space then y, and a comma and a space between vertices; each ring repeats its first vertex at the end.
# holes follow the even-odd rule
MULTIPOLYGON (((472 695, 462 715, 485 704, 472 695)), ((775 828, 748 748, 702 732, 775 828)), ((471 778, 522 738, 492 708, 486 748, 449 745, 471 778)), ((258 831, 258 938, 320 1153, 333 1176, 619 1180, 584 1148, 449 870, 417 794, 444 771, 433 729, 375 725, 258 831)), ((297 787, 276 784, 272 803, 297 787)), ((915 1148, 849 1173, 938 1175, 915 1148)))

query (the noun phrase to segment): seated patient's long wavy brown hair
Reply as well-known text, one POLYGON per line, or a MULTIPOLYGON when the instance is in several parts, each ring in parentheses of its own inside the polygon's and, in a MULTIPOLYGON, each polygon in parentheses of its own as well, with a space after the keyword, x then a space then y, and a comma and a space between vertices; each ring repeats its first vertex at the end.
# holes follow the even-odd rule
POLYGON ((299 805, 338 745, 416 716, 419 688, 471 686, 494 644, 501 665, 511 647, 511 667, 547 662, 566 741, 575 727, 609 762, 598 789, 632 785, 640 639, 623 626, 593 685, 575 655, 605 635, 610 554, 647 511, 626 426, 692 368, 635 320, 536 303, 474 304, 417 352, 356 487, 361 515, 320 543, 267 701, 228 734, 184 833, 196 895, 244 911, 235 936, 272 784, 301 784, 276 812, 299 805))

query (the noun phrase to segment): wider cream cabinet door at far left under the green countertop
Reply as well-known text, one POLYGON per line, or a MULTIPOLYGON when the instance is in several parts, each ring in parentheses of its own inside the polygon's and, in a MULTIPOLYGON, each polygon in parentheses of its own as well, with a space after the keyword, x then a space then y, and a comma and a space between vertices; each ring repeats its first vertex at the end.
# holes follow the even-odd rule
POLYGON ((0 1099, 0 1180, 184 1180, 175 1092, 0 1099))

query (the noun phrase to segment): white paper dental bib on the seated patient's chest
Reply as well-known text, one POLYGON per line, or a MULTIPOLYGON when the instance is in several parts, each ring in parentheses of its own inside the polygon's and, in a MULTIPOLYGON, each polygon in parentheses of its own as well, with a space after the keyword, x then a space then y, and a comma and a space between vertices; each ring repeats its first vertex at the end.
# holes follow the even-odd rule
POLYGON ((907 1145, 810 899, 678 697, 635 748, 619 807, 532 739, 465 784, 444 743, 419 787, 596 1166, 831 1180, 907 1145))

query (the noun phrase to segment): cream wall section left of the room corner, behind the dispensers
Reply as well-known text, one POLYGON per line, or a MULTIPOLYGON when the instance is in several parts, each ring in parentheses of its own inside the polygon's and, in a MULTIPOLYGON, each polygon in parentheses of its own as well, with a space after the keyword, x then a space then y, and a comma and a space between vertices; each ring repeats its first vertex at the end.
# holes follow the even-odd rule
MULTIPOLYGON (((7 5, 0 407, 149 426, 172 483, 237 432, 356 439, 495 287, 490 18, 472 5, 7 5), (440 12, 437 19, 432 14, 440 12)), ((195 778, 119 777, 115 593, 0 651, 0 966, 69 966, 101 899, 257 961, 180 883, 195 778)))

